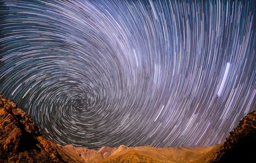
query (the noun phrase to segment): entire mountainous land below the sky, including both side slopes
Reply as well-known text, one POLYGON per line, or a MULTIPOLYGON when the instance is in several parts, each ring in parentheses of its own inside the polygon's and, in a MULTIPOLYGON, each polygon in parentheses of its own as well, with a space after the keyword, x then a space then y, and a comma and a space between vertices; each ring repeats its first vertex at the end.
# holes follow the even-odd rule
POLYGON ((211 147, 99 150, 47 140, 29 114, 0 95, 0 163, 239 163, 256 162, 256 112, 247 114, 223 144, 211 147))

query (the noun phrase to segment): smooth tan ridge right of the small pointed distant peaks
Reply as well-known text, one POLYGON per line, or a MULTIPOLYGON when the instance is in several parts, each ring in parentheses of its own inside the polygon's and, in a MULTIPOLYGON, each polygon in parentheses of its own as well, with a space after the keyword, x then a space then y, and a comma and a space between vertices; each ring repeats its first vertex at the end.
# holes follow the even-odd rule
POLYGON ((210 152, 212 148, 215 147, 129 147, 100 163, 191 163, 210 152))

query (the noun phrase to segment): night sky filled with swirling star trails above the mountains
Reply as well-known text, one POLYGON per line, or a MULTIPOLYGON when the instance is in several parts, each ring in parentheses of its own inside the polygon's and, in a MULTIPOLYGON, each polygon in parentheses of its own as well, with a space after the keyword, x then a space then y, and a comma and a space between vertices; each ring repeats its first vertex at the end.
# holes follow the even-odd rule
POLYGON ((253 0, 0 3, 0 94, 55 143, 213 146, 256 110, 253 0))

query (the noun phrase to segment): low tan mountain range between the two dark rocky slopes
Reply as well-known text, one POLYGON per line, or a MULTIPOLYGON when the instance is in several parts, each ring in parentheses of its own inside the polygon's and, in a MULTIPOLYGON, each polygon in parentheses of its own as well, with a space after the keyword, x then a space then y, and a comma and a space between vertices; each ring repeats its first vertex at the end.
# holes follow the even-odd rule
POLYGON ((209 152, 208 156, 210 156, 217 149, 216 146, 155 148, 151 146, 126 147, 121 145, 118 148, 102 147, 99 150, 75 148, 72 145, 62 147, 67 152, 72 151, 78 155, 81 154, 86 163, 170 163, 170 161, 171 163, 190 163, 209 152))

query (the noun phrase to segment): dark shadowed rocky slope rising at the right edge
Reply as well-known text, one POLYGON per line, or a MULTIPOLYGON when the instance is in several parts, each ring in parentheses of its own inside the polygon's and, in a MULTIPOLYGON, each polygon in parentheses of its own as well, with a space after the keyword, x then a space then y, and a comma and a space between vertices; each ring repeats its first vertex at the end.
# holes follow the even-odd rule
POLYGON ((239 125, 230 132, 224 144, 208 163, 256 162, 256 111, 247 114, 239 125))

